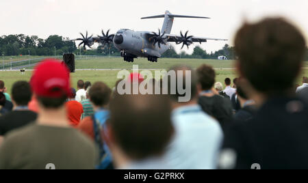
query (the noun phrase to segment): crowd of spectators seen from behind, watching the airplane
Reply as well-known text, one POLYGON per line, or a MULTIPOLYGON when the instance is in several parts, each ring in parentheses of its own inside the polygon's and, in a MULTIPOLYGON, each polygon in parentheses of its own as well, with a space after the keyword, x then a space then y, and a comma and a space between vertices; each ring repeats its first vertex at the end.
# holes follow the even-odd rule
POLYGON ((283 18, 245 23, 239 77, 223 85, 206 64, 170 68, 168 89, 189 77, 187 102, 178 88, 119 94, 122 81, 145 81, 138 73, 114 89, 79 80, 76 91, 60 61, 42 61, 11 95, 0 81, 0 169, 307 169, 308 78, 294 89, 305 45, 283 18))

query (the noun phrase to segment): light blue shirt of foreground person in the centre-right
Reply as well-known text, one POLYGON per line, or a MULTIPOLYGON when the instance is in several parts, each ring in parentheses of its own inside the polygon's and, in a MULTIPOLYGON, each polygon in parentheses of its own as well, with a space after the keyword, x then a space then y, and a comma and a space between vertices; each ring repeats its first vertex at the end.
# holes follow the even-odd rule
POLYGON ((166 169, 216 169, 223 133, 197 104, 172 112, 175 135, 165 154, 166 169))

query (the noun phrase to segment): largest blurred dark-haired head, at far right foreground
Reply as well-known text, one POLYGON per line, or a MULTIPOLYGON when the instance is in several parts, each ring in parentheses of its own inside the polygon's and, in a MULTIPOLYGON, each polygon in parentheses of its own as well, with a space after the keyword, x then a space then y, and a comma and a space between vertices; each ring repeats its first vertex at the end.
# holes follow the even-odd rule
POLYGON ((285 95, 300 72, 305 45, 302 33, 283 18, 245 23, 235 36, 238 71, 264 96, 285 95))

